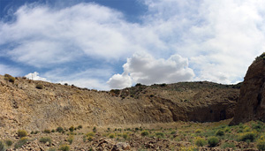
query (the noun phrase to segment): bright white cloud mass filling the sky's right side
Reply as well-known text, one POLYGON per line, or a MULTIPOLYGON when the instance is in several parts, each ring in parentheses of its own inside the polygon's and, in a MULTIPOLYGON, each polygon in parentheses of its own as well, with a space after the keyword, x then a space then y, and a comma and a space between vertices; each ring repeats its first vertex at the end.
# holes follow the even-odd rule
POLYGON ((147 0, 146 4, 155 34, 175 53, 190 58, 197 80, 242 80, 254 58, 265 51, 265 1, 147 0))

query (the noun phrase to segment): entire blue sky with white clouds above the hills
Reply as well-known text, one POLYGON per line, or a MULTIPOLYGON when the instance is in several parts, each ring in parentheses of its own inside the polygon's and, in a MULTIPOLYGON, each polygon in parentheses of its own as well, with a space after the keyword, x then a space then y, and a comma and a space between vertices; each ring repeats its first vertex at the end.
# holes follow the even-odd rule
POLYGON ((98 90, 243 81, 263 0, 0 0, 0 74, 98 90))

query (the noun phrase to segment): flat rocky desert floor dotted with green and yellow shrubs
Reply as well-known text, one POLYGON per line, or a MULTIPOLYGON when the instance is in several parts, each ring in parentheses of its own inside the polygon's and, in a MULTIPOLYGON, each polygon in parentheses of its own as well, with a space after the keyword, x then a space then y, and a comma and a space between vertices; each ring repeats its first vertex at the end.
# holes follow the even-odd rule
POLYGON ((246 124, 228 125, 230 121, 107 128, 71 126, 57 127, 55 132, 42 131, 36 134, 19 130, 15 135, 19 136, 19 139, 14 137, 1 140, 0 147, 25 149, 28 146, 37 146, 50 151, 100 150, 113 147, 123 147, 124 150, 265 150, 264 123, 251 121, 246 124))

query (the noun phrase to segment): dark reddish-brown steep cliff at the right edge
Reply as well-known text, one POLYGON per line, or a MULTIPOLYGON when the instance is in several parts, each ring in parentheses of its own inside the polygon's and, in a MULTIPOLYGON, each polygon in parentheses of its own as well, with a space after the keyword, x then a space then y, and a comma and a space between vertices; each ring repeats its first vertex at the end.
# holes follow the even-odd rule
POLYGON ((231 125, 251 120, 265 120, 265 59, 257 57, 246 72, 240 88, 239 102, 231 125))

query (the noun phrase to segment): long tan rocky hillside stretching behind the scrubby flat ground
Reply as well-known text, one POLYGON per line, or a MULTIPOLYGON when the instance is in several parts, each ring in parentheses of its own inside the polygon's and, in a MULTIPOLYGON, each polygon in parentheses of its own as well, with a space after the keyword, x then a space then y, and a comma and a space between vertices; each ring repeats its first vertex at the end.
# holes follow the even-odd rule
POLYGON ((0 130, 219 121, 234 116, 239 87, 205 81, 106 92, 0 75, 0 130))

